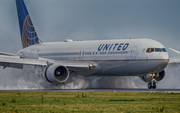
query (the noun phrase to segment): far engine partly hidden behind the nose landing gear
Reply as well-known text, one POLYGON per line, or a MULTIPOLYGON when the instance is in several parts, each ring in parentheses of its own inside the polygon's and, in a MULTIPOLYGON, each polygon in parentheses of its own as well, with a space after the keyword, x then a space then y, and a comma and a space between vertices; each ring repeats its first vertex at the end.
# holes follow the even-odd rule
MULTIPOLYGON (((165 70, 159 72, 158 74, 155 75, 154 79, 157 81, 157 82, 161 82, 164 77, 165 77, 166 73, 165 73, 165 70)), ((150 74, 147 74, 145 76, 140 76, 141 80, 144 81, 144 82, 151 82, 151 76, 150 74)))

